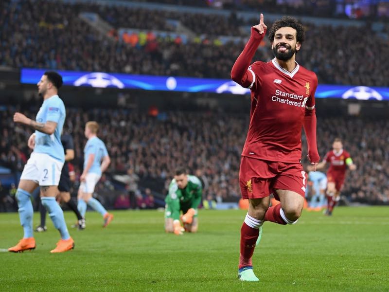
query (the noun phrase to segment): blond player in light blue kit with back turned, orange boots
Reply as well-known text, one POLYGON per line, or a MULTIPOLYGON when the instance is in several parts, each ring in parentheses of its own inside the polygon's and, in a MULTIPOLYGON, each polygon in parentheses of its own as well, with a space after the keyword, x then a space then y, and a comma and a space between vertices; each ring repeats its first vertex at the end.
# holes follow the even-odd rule
POLYGON ((85 125, 85 137, 88 138, 88 142, 84 148, 84 171, 80 177, 77 207, 82 217, 85 218, 88 204, 103 216, 103 226, 106 227, 112 221, 113 215, 109 214, 103 205, 92 196, 101 174, 106 171, 111 162, 106 145, 97 137, 98 130, 99 124, 96 122, 88 122, 85 125))

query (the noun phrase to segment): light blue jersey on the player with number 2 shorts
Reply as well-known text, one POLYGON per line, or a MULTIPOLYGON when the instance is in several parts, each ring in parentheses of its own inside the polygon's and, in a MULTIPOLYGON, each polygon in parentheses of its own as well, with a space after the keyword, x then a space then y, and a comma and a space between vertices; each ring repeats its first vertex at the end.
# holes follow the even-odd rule
POLYGON ((43 101, 36 114, 36 122, 45 124, 47 121, 51 121, 57 123, 57 127, 51 135, 35 130, 34 152, 46 153, 61 162, 65 162, 65 152, 61 143, 65 117, 65 105, 58 95, 53 95, 43 101))

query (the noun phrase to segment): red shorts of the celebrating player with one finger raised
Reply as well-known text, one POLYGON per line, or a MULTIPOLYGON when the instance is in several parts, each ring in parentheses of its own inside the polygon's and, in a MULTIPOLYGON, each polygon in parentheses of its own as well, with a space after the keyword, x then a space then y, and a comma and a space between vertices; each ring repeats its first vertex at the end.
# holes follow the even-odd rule
POLYGON ((243 199, 265 198, 275 190, 289 190, 305 197, 307 175, 300 163, 272 162, 242 156, 239 184, 243 199))

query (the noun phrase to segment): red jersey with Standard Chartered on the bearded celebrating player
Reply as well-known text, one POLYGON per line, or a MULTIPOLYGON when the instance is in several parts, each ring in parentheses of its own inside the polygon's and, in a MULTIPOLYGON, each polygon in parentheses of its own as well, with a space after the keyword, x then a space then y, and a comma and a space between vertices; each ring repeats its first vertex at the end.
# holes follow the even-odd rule
POLYGON ((275 59, 255 62, 250 125, 243 156, 296 163, 301 159, 301 129, 306 110, 315 108, 316 74, 296 63, 292 72, 275 59))

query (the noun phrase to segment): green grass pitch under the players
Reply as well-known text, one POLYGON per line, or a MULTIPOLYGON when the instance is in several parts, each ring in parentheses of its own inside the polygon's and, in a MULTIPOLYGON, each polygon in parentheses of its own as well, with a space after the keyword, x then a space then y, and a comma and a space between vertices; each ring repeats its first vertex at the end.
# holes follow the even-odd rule
MULTIPOLYGON (((201 210, 198 234, 177 237, 164 233, 162 212, 114 212, 106 229, 88 212, 87 229, 70 229, 75 249, 63 254, 50 254, 59 234, 48 218, 35 251, 0 253, 0 291, 389 291, 388 207, 338 207, 332 217, 304 211, 293 226, 266 222, 256 283, 237 279, 245 214, 201 210)), ((2 251, 16 244, 18 214, 0 213, 0 231, 2 251)))

